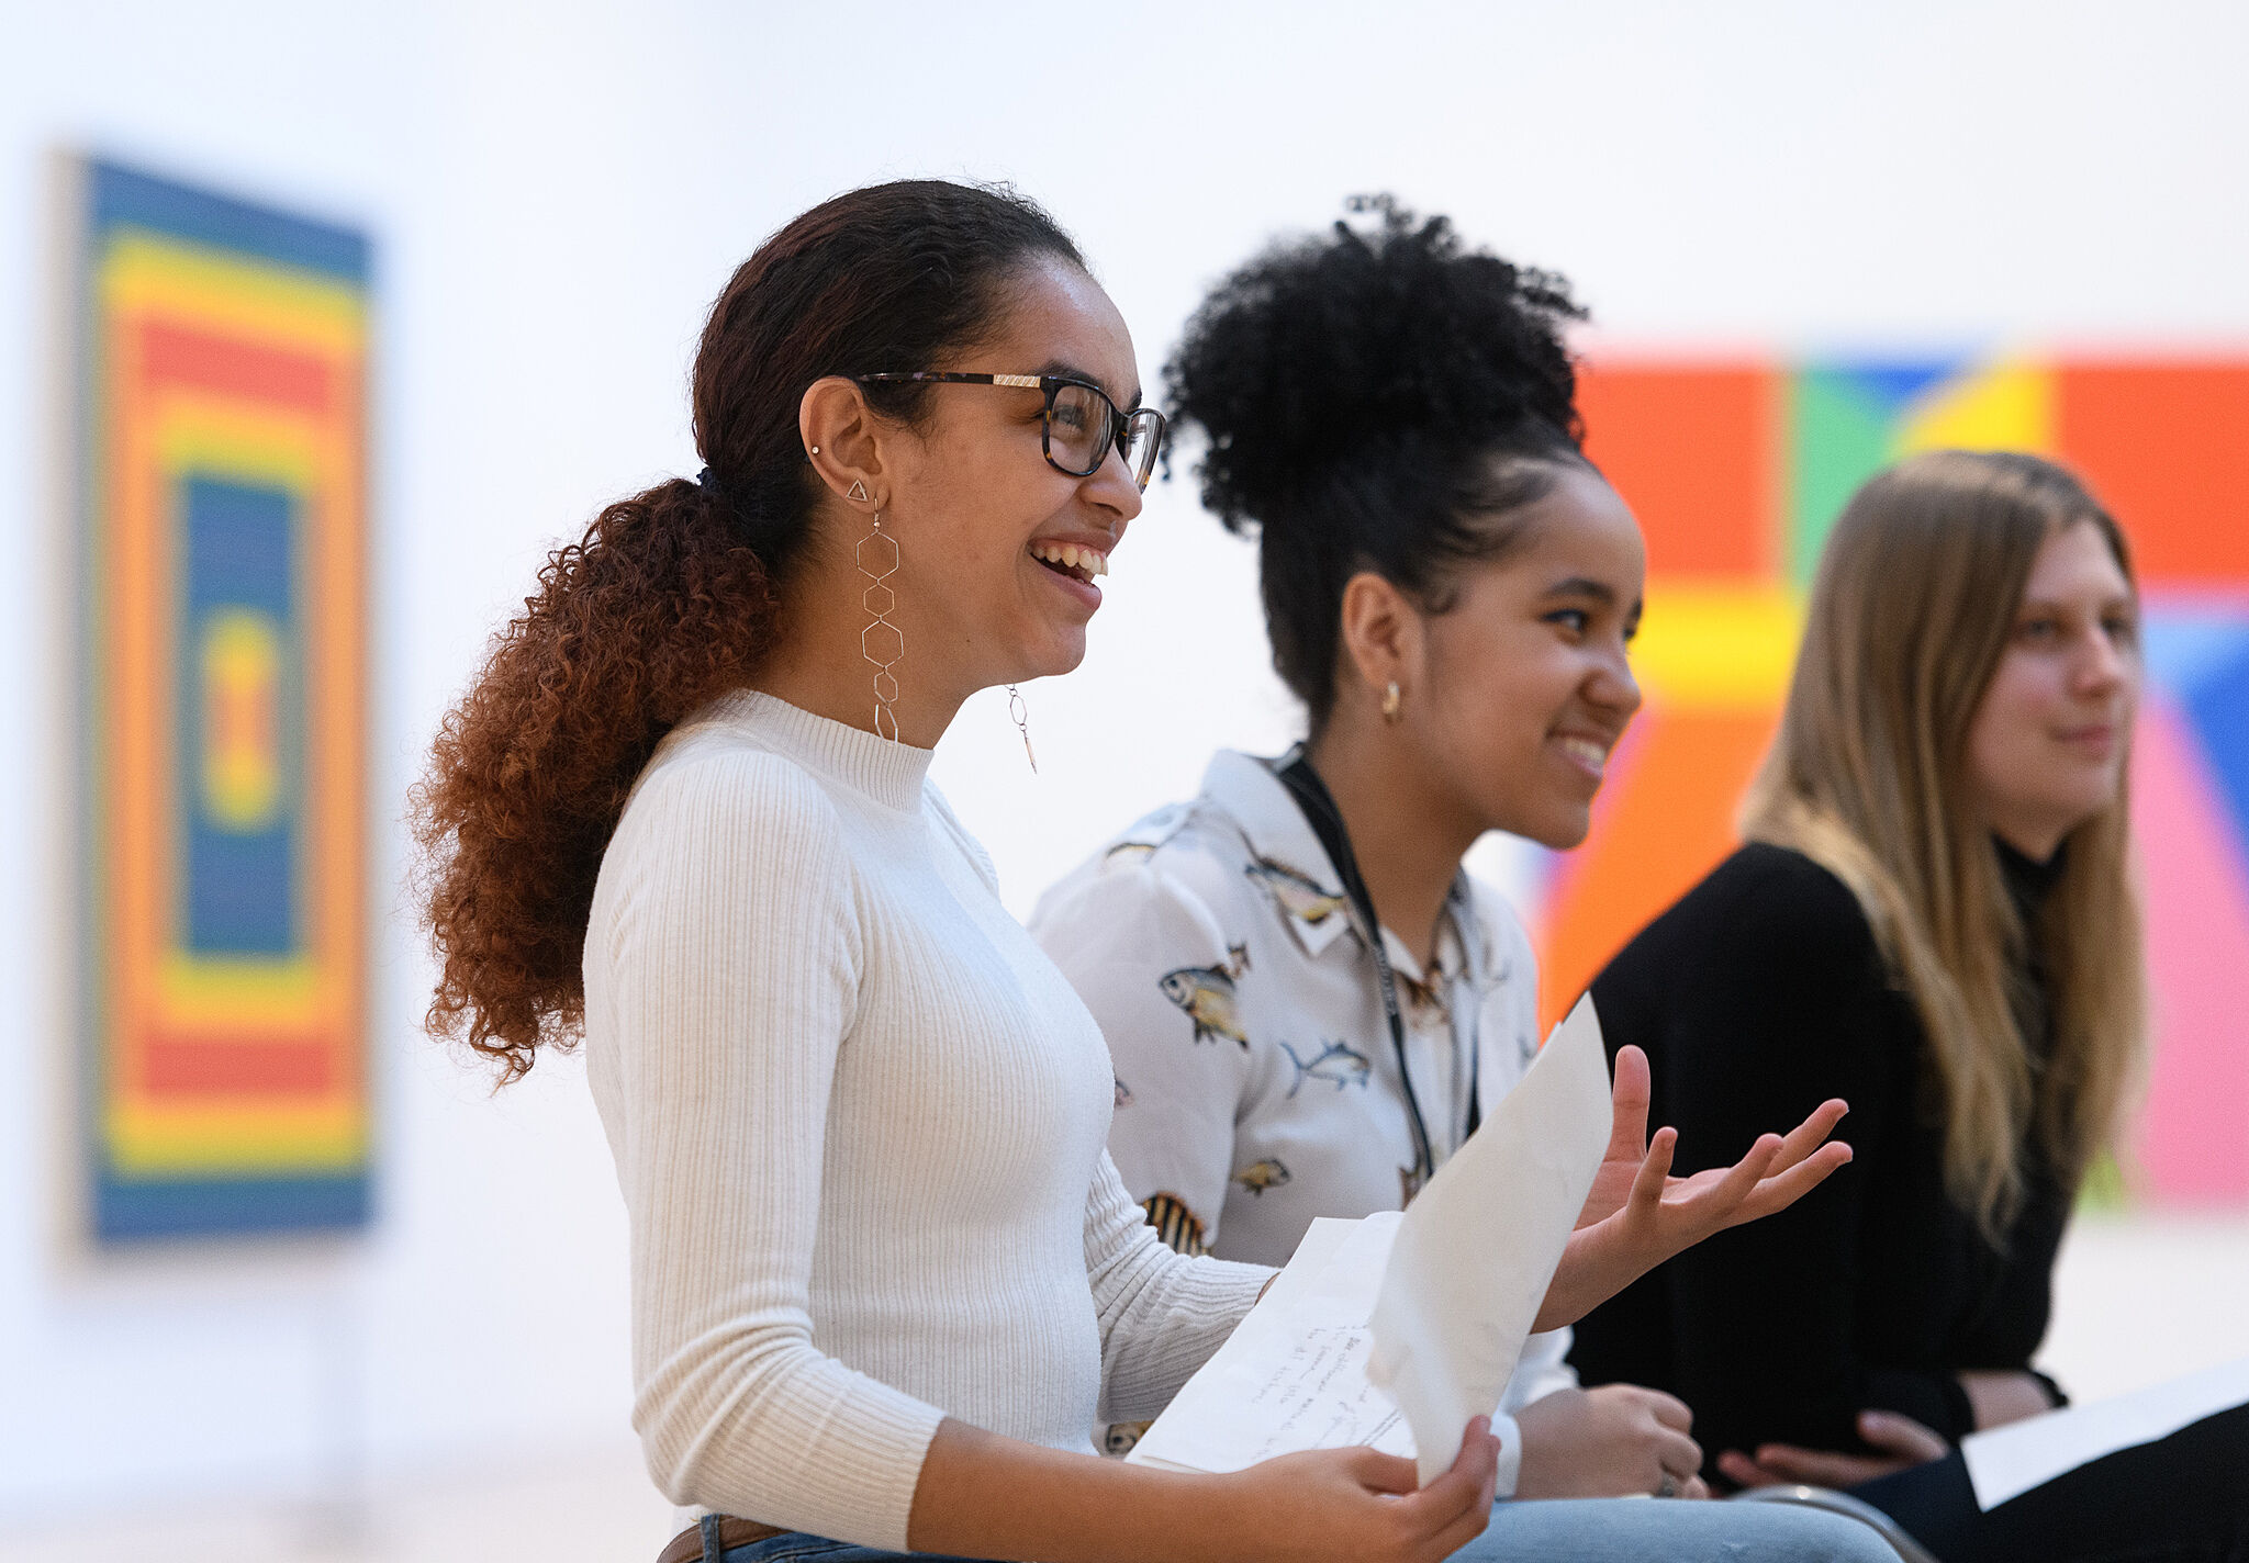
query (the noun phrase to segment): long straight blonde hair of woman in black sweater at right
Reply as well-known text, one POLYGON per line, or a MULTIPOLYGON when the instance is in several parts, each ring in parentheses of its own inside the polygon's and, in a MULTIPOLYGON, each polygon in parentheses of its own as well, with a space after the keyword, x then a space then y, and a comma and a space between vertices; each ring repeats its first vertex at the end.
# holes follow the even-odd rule
POLYGON ((2128 798, 2069 832, 2024 927, 1988 825, 1963 807, 1968 726, 2047 537, 2089 522, 2125 580, 2123 533, 2062 468, 1943 450, 1869 479, 1819 558, 1781 729, 1741 832, 1826 866, 1858 897, 1927 1035, 1945 1187, 1999 1237, 2035 1142, 2074 1185, 2107 1145, 2146 1043, 2128 798), (2047 978, 2053 1057, 2015 999, 2047 978))

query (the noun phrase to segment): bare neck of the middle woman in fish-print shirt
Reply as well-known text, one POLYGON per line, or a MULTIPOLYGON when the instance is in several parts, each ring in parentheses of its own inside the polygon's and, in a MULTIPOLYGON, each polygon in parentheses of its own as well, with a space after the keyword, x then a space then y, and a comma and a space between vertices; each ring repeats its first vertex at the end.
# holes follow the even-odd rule
POLYGON ((1403 747, 1385 731, 1352 731, 1343 713, 1304 749, 1327 783, 1343 828, 1352 837, 1358 877, 1374 915, 1406 940, 1415 960, 1430 965, 1444 900, 1460 875, 1462 855, 1482 834, 1473 821, 1412 771, 1403 747))

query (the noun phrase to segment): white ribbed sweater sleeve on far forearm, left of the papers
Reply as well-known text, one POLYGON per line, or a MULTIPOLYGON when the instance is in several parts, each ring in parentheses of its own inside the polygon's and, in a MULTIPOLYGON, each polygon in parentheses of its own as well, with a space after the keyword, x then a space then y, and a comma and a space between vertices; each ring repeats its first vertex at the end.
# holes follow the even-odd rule
POLYGON ((1210 1361, 1273 1277, 1165 1248, 1102 1154, 1086 1194, 1086 1280, 1102 1329, 1102 1421, 1154 1417, 1210 1361))

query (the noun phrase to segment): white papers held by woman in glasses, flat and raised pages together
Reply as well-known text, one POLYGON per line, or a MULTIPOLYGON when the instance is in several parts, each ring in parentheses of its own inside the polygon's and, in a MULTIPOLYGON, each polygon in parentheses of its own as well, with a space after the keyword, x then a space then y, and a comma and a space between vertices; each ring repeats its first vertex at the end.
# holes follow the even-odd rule
MULTIPOLYGON (((1401 1356, 1401 1381, 1442 1408, 1475 1406, 1424 1421, 1437 1428, 1446 1453, 1435 1471, 1444 1471, 1469 1417, 1500 1403, 1606 1145, 1608 1061, 1588 999, 1408 1212, 1311 1223, 1266 1295, 1127 1462, 1241 1471, 1354 1444, 1412 1460, 1410 1419, 1367 1372, 1374 1318, 1390 1300, 1419 1343, 1401 1356), (1401 1268, 1401 1235, 1417 1226, 1415 1259, 1401 1268)), ((1428 1480, 1430 1464, 1419 1464, 1428 1480)))

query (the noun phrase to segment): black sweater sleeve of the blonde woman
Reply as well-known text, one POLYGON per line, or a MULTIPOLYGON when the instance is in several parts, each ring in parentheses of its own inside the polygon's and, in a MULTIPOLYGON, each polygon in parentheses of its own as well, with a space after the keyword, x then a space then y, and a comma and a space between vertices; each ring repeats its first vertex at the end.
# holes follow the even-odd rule
POLYGON ((1667 1266, 1673 1388, 1696 1435, 1711 1457, 1759 1442, 1858 1451, 1858 1412, 1887 1406, 1957 1437, 1959 1385, 1864 1361, 1855 1327, 1869 1187, 1914 1088, 1909 1021, 1873 933, 1851 891, 1795 852, 1752 848, 1698 895, 1669 960, 1640 974, 1667 985, 1649 1050, 1678 1172, 1727 1165, 1828 1097, 1851 1104, 1837 1138, 1853 1163, 1667 1266))

